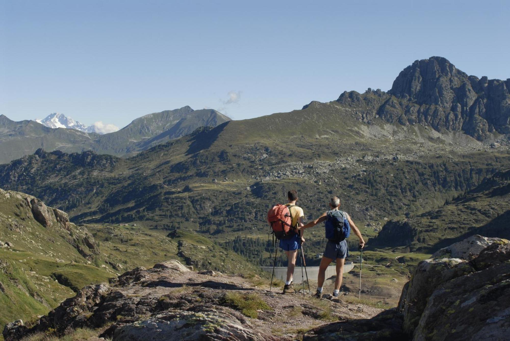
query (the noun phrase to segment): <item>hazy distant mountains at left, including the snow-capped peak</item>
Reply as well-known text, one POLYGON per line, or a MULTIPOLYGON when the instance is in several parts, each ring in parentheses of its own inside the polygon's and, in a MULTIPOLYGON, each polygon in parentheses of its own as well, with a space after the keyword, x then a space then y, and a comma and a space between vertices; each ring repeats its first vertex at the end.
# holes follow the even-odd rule
POLYGON ((40 122, 9 120, 0 115, 0 163, 7 163, 37 149, 129 156, 170 139, 187 135, 202 126, 217 126, 230 121, 212 109, 193 110, 189 106, 150 113, 124 128, 98 134, 97 127, 54 113, 40 122))

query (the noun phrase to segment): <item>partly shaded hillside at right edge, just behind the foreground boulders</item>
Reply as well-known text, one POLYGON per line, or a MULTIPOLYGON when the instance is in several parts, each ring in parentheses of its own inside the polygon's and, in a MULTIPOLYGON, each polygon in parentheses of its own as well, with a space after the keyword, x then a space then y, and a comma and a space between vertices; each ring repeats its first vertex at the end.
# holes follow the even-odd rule
POLYGON ((389 221, 373 244, 433 252, 474 234, 510 238, 509 223, 510 169, 506 169, 438 209, 389 221))

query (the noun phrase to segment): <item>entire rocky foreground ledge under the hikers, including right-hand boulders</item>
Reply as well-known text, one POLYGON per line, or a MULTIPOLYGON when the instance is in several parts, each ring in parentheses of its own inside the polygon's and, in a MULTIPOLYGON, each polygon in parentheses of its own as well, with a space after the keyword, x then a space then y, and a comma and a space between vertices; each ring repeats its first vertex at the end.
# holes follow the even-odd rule
POLYGON ((388 310, 268 292, 260 278, 194 272, 177 261, 89 286, 6 340, 88 327, 97 340, 504 340, 510 331, 510 244, 473 236, 422 261, 388 310), (336 321, 336 322, 331 322, 336 321))

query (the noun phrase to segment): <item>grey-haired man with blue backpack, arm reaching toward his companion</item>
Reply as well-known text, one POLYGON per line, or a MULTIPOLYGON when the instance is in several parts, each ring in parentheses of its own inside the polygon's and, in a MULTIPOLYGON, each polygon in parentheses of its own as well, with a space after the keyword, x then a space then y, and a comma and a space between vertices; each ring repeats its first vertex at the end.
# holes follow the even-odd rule
MULTIPOLYGON (((350 230, 360 239, 360 248, 365 246, 365 241, 356 228, 356 225, 351 220, 350 216, 343 211, 340 211, 340 198, 334 196, 329 202, 331 210, 324 212, 319 218, 305 224, 300 229, 308 229, 317 225, 320 222, 325 222, 326 228, 326 249, 322 255, 322 260, 319 266, 319 275, 317 278, 317 298, 322 298, 322 285, 324 284, 324 277, 329 263, 336 260, 337 263, 337 278, 335 280, 335 290, 333 296, 338 297, 340 294, 340 287, 342 286, 342 276, 344 272, 345 258, 349 255, 347 248, 347 238, 350 235, 350 230)), ((298 228, 299 229, 299 228, 298 228)))

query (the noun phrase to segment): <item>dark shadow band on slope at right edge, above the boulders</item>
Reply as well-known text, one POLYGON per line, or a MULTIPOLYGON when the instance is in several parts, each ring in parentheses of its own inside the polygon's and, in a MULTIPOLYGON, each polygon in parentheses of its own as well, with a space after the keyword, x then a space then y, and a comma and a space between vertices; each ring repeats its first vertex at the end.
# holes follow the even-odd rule
POLYGON ((510 230, 508 230, 509 224, 510 224, 510 210, 506 211, 501 215, 498 215, 496 218, 492 219, 487 224, 480 226, 479 228, 475 228, 469 232, 466 232, 462 236, 443 239, 442 241, 432 246, 431 248, 432 252, 435 252, 443 247, 450 246, 453 243, 460 242, 461 240, 464 240, 473 235, 510 239, 510 230))

